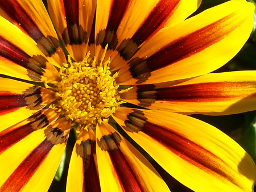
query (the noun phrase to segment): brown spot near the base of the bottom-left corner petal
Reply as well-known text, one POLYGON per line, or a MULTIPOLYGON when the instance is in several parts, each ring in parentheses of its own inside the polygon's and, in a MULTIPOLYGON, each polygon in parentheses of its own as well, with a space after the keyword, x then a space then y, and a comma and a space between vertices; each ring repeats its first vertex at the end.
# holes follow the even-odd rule
POLYGON ((64 135, 63 131, 59 128, 52 127, 51 125, 44 130, 44 135, 46 135, 46 140, 51 141, 53 145, 66 143, 68 140, 67 135, 64 135))

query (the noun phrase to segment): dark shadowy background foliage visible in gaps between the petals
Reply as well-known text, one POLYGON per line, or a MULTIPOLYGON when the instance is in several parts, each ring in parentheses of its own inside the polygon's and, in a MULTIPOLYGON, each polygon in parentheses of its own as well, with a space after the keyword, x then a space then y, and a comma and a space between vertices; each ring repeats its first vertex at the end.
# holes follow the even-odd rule
MULTIPOLYGON (((256 0, 247 0, 256 5, 256 0)), ((43 1, 46 2, 46 1, 43 1)), ((193 14, 199 14, 205 9, 219 5, 226 0, 203 0, 199 9, 193 14)), ((45 3, 46 4, 46 3, 45 3)), ((191 16, 193 16, 191 15, 191 16)), ((215 72, 228 72, 233 70, 256 70, 256 12, 254 14, 255 22, 253 32, 243 46, 241 51, 222 68, 215 72)), ((242 114, 225 115, 225 116, 206 116, 192 115, 197 119, 204 120, 209 124, 219 128, 227 135, 237 141, 256 161, 256 111, 245 112, 242 114)), ((69 137, 69 145, 66 150, 66 157, 62 161, 62 168, 59 169, 53 180, 49 191, 65 191, 65 183, 67 180, 68 164, 71 157, 73 145, 75 144, 75 133, 71 132, 69 137)), ((143 152, 139 146, 137 146, 143 152)), ((148 155, 145 153, 148 157, 148 155)), ((191 191, 181 183, 177 182, 173 177, 165 172, 152 158, 148 157, 156 170, 161 174, 171 191, 191 191)))

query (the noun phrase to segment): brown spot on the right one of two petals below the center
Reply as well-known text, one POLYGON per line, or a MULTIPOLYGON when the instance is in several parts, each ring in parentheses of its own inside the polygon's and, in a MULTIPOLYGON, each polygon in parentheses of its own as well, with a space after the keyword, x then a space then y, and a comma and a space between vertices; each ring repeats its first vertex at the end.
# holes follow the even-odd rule
POLYGON ((97 144, 103 151, 118 149, 120 142, 121 137, 117 132, 114 132, 111 135, 102 136, 100 140, 97 139, 97 144))

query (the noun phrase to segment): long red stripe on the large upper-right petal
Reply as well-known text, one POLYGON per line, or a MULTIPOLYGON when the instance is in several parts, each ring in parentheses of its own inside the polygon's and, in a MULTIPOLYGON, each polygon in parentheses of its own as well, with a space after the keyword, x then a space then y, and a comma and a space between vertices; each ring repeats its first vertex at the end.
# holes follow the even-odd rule
POLYGON ((200 30, 192 32, 191 34, 183 36, 175 42, 168 44, 165 48, 146 60, 147 67, 150 71, 163 68, 164 66, 171 65, 174 62, 199 53, 210 45, 217 43, 234 30, 235 27, 229 28, 225 26, 228 30, 223 28, 222 23, 230 17, 232 17, 232 15, 217 20, 200 30))

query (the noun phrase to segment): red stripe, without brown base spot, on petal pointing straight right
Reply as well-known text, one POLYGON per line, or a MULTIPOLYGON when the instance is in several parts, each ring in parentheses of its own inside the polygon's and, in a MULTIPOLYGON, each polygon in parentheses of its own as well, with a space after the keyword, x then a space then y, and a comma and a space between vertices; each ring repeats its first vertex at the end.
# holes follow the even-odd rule
MULTIPOLYGON (((253 87, 253 83, 209 82, 152 90, 157 91, 154 94, 154 99, 158 101, 217 102, 238 98, 241 97, 241 95, 246 94, 246 89, 242 90, 241 87, 253 87)), ((138 92, 139 91, 140 90, 138 89, 138 92)), ((144 92, 144 94, 145 93, 146 92, 144 92)), ((143 98, 143 93, 139 93, 139 95, 140 99, 143 98)))

